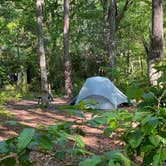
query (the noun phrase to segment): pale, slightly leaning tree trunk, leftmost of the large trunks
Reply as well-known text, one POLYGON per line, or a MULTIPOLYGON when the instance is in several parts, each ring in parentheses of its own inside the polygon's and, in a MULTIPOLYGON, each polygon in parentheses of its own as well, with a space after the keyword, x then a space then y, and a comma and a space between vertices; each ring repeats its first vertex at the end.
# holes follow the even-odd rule
POLYGON ((40 73, 41 73, 41 87, 42 87, 42 105, 47 107, 49 105, 48 100, 48 83, 47 83, 47 71, 46 71, 46 58, 43 42, 43 30, 42 30, 42 7, 44 0, 36 1, 36 15, 38 25, 38 53, 40 57, 40 73))

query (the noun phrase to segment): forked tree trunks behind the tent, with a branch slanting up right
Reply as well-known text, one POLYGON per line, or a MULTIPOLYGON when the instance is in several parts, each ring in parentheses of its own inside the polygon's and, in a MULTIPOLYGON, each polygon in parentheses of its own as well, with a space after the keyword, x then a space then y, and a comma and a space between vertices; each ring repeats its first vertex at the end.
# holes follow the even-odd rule
MULTIPOLYGON (((117 7, 118 1, 116 0, 100 0, 100 2, 103 8, 103 34, 102 34, 103 47, 102 48, 108 49, 109 65, 113 71, 113 69, 115 68, 115 48, 116 48, 115 33, 120 21, 124 17, 125 12, 128 10, 133 0, 125 0, 125 4, 121 10, 118 10, 117 7), (108 22, 110 25, 109 35, 107 32, 108 22), (109 40, 109 45, 107 44, 107 40, 109 40)), ((111 76, 111 79, 113 79, 113 74, 111 76)))

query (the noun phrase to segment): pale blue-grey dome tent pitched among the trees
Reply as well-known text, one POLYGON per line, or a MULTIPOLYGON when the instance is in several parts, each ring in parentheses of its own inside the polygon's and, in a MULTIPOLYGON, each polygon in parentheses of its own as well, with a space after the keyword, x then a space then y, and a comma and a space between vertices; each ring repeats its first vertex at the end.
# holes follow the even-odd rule
POLYGON ((82 86, 75 104, 80 102, 84 102, 87 108, 116 109, 128 100, 108 78, 96 76, 88 78, 82 86))

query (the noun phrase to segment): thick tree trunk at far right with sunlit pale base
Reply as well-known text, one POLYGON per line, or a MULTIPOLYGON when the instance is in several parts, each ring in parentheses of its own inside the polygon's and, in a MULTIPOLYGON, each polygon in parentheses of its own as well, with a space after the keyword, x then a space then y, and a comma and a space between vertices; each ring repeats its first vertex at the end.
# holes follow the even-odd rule
POLYGON ((163 56, 163 8, 162 0, 152 0, 152 32, 148 54, 148 75, 151 85, 157 85, 161 76, 154 68, 155 63, 163 56))

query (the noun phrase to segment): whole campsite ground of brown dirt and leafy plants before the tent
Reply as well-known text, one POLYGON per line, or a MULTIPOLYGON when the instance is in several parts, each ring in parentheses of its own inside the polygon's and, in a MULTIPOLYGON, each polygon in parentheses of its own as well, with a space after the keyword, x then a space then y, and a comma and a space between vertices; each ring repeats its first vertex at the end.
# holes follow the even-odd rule
POLYGON ((8 101, 1 111, 0 164, 162 166, 165 93, 144 93, 137 108, 114 111, 85 110, 83 103, 73 107, 60 99, 47 110, 34 100, 8 101))

